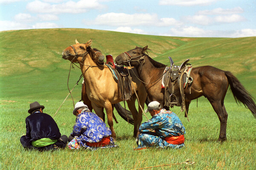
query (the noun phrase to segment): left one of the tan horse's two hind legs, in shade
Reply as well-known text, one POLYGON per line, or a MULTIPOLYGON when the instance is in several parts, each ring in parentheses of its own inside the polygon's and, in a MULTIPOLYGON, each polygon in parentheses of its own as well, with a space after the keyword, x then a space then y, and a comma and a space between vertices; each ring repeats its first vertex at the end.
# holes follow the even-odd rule
POLYGON ((136 96, 133 95, 132 98, 127 102, 128 108, 131 111, 132 117, 134 118, 134 138, 137 136, 138 132, 138 111, 135 106, 136 96))

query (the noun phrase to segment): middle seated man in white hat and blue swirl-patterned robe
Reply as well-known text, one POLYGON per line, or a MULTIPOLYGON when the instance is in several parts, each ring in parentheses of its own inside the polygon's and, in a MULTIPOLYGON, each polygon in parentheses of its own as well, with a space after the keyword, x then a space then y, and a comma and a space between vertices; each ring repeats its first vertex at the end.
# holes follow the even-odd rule
POLYGON ((69 149, 98 149, 117 147, 111 137, 111 130, 106 127, 103 120, 95 113, 90 112, 87 105, 77 102, 73 114, 76 116, 76 124, 69 136, 69 149))

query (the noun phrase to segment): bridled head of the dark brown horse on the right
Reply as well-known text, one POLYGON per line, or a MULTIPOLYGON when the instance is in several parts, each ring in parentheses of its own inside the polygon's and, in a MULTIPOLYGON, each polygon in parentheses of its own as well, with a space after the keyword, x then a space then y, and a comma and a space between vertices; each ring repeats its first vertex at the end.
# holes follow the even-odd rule
POLYGON ((131 66, 138 66, 140 62, 144 59, 145 52, 147 52, 148 46, 145 46, 144 48, 137 47, 126 51, 119 56, 116 57, 115 61, 118 65, 131 65, 131 66))

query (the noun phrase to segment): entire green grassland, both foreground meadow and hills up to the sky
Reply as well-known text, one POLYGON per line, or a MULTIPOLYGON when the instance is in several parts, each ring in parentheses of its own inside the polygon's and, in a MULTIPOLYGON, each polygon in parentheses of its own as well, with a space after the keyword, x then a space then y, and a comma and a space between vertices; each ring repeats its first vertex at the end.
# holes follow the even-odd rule
MULTIPOLYGON (((149 149, 134 151, 133 126, 114 111, 119 123, 114 124, 118 148, 111 150, 26 151, 20 136, 26 133, 25 119, 29 103, 38 101, 53 116, 68 94, 67 76, 70 62, 61 58, 69 45, 93 40, 93 48, 103 54, 118 54, 136 45, 151 49, 149 56, 169 65, 189 58, 193 66, 212 65, 231 71, 256 97, 256 37, 189 38, 127 34, 90 29, 42 29, 0 32, 0 169, 248 169, 256 168, 256 119, 244 106, 239 106, 228 92, 225 106, 229 113, 227 142, 219 144, 219 120, 204 98, 192 101, 189 120, 179 107, 172 109, 186 127, 186 147, 180 150, 149 149), (192 165, 176 164, 187 159, 192 165)), ((73 88, 81 71, 71 71, 73 88)), ((73 91, 80 99, 81 85, 73 91)), ((55 116, 61 134, 69 135, 75 122, 73 103, 69 97, 55 116)), ((149 117, 149 115, 147 115, 149 117)), ((145 121, 143 116, 143 121, 145 121)))

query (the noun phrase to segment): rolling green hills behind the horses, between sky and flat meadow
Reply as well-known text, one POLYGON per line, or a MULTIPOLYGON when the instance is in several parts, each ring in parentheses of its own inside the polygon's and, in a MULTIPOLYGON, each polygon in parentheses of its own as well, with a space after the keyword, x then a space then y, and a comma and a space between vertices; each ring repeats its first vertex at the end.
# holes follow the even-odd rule
MULTIPOLYGON (((93 48, 113 57, 137 46, 148 45, 149 56, 169 65, 185 59, 196 67, 212 65, 233 72, 255 97, 256 37, 189 38, 128 34, 92 29, 35 29, 0 32, 0 98, 64 99, 70 62, 61 58, 69 45, 92 39, 93 48)), ((81 71, 71 72, 70 88, 81 71)), ((80 90, 74 96, 80 97, 80 90)))

